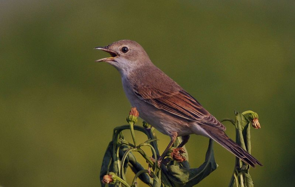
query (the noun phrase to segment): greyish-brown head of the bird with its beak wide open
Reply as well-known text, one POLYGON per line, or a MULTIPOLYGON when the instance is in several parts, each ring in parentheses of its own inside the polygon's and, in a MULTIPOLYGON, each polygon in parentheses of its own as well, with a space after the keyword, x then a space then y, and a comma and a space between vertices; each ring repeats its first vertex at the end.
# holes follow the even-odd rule
POLYGON ((103 50, 111 55, 111 57, 98 59, 95 62, 107 62, 116 67, 120 73, 130 72, 142 65, 151 63, 142 46, 131 40, 115 41, 108 46, 94 49, 103 50))

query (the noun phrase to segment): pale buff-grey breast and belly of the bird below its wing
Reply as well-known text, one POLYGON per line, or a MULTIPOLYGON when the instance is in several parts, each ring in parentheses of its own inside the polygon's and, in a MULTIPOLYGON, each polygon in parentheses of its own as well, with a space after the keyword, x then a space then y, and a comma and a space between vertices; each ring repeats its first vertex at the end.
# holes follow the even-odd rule
POLYGON ((137 95, 130 89, 128 83, 123 81, 124 92, 131 103, 132 107, 136 107, 139 117, 151 124, 154 128, 165 135, 172 135, 171 131, 176 131, 179 136, 190 135, 193 132, 190 129, 189 122, 175 115, 157 109, 155 106, 139 99, 137 95))

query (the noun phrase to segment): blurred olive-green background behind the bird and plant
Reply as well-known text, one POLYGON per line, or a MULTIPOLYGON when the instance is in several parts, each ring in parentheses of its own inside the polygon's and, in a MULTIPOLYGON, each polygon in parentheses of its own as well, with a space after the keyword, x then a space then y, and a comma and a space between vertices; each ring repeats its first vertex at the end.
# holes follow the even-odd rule
MULTIPOLYGON (((250 171, 255 186, 293 186, 294 9, 292 1, 1 0, 0 185, 100 186, 112 129, 127 124, 131 106, 116 69, 94 62, 108 54, 93 48, 131 39, 218 119, 257 112, 252 154, 264 167, 250 171)), ((169 138, 157 135, 163 151, 169 138)), ((207 143, 191 136, 192 167, 207 143)), ((215 157, 219 168, 198 186, 228 185, 234 156, 215 144, 215 157)))

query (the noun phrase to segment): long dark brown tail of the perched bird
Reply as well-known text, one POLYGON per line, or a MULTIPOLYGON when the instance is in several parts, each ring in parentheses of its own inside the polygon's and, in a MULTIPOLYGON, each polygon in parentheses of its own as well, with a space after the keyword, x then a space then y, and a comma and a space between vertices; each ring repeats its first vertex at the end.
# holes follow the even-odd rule
POLYGON ((210 138, 215 140, 225 149, 229 150, 235 156, 248 163, 252 167, 255 167, 256 164, 263 166, 256 158, 250 155, 247 151, 245 151, 241 146, 239 146, 236 142, 230 139, 224 131, 216 129, 214 127, 210 127, 207 125, 202 125, 202 128, 208 133, 210 138))

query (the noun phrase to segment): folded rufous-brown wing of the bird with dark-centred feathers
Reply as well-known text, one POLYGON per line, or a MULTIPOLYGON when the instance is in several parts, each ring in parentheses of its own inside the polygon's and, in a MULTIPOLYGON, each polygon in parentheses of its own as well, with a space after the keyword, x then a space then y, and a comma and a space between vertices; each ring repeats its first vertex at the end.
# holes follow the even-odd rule
POLYGON ((220 130, 226 129, 194 97, 183 89, 175 92, 143 87, 140 89, 133 88, 133 90, 140 99, 158 109, 165 110, 186 120, 196 121, 199 124, 219 128, 220 130))

